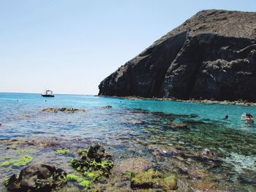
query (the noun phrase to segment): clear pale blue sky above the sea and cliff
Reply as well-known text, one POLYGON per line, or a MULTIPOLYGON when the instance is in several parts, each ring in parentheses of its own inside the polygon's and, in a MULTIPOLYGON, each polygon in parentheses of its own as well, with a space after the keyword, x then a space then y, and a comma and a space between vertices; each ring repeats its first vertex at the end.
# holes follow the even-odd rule
POLYGON ((202 9, 255 0, 0 0, 0 92, 97 94, 101 80, 202 9))

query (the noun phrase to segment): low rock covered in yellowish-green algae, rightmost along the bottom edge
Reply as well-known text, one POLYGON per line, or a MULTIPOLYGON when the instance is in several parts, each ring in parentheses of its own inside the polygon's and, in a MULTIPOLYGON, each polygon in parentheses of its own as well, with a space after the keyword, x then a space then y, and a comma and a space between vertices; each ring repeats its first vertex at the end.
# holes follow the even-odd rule
POLYGON ((148 171, 135 174, 135 176, 132 177, 131 188, 159 188, 162 191, 176 189, 176 174, 165 177, 164 174, 154 169, 148 169, 148 171))

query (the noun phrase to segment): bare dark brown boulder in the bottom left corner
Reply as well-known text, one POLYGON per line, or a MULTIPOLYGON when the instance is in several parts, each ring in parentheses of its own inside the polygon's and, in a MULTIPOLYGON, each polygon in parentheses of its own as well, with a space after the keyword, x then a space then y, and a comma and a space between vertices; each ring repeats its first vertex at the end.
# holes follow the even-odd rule
POLYGON ((22 169, 19 177, 12 174, 4 185, 9 191, 48 192, 66 183, 67 173, 64 170, 48 164, 32 164, 22 169))

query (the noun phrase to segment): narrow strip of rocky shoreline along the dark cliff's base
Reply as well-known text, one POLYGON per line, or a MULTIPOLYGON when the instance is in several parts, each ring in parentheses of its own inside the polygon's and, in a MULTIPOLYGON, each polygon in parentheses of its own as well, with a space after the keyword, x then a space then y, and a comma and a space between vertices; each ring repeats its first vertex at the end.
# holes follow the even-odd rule
MULTIPOLYGON (((97 95, 102 96, 102 95, 97 95)), ((244 107, 256 107, 256 103, 248 102, 248 101, 217 101, 211 99, 176 99, 176 98, 146 98, 140 96, 102 96, 102 97, 111 97, 116 99, 129 99, 133 101, 142 101, 142 100, 153 100, 153 101, 178 101, 178 102, 186 102, 186 103, 202 103, 202 104, 223 104, 223 105, 238 105, 244 107)))

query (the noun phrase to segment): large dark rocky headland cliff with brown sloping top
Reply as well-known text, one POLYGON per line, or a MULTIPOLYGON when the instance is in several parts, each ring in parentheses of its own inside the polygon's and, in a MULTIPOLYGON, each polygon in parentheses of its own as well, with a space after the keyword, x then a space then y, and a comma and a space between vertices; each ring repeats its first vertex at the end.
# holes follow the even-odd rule
POLYGON ((99 95, 256 101, 256 12, 198 12, 106 77, 99 95))

